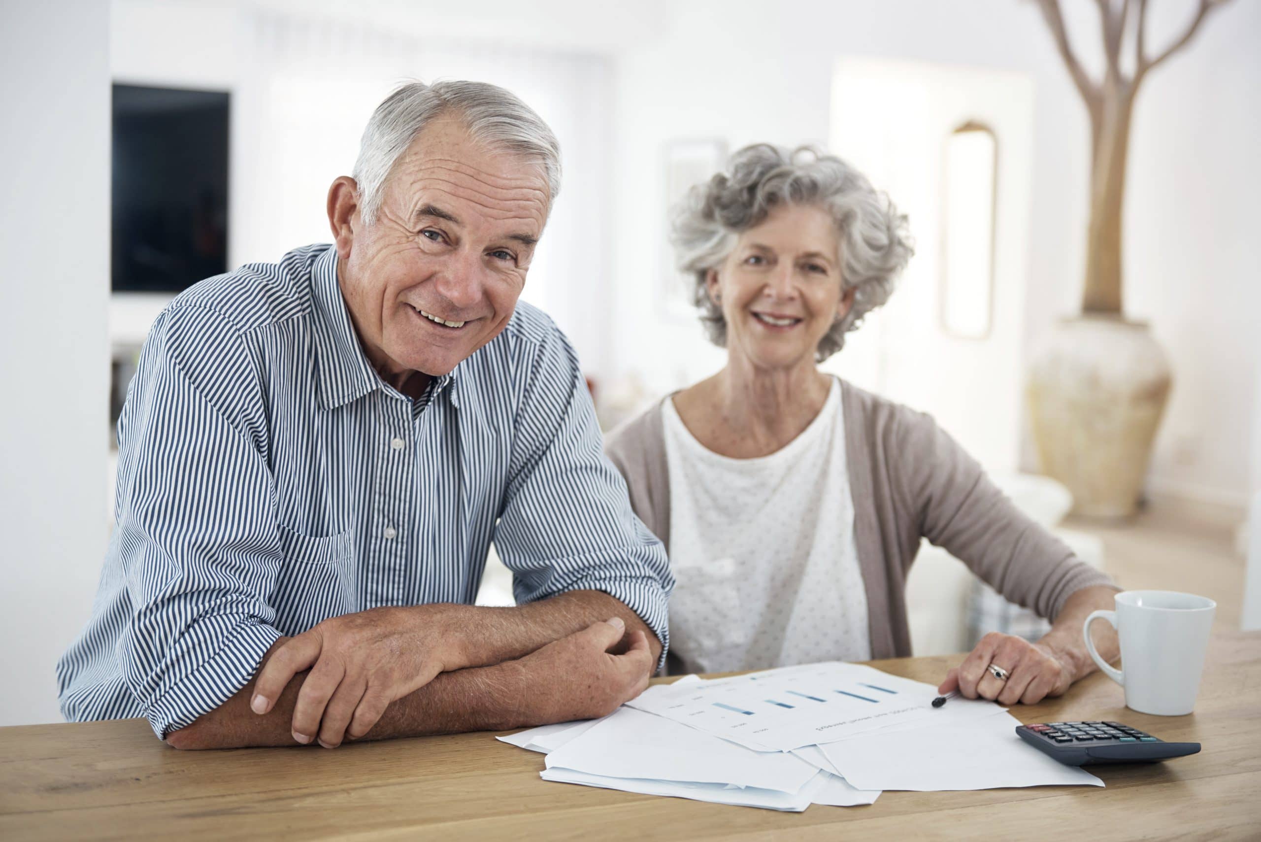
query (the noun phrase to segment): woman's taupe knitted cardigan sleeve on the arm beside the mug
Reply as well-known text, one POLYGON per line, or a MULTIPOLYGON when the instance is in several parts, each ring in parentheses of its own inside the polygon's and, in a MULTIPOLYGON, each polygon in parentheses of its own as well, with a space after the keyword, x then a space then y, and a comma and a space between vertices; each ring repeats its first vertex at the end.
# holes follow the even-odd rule
POLYGON ((1116 587, 1016 508, 928 415, 903 411, 894 447, 905 466, 899 490, 921 518, 921 534, 1005 599, 1054 620, 1074 591, 1116 587))

